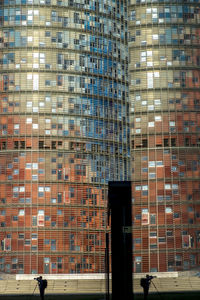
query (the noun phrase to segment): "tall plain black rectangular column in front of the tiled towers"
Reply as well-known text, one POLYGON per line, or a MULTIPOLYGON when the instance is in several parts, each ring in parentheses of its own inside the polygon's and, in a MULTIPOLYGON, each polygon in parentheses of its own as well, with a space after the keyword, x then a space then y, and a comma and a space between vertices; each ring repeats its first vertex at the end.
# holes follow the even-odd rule
POLYGON ((112 300, 132 300, 131 182, 109 182, 108 201, 111 213, 112 300))

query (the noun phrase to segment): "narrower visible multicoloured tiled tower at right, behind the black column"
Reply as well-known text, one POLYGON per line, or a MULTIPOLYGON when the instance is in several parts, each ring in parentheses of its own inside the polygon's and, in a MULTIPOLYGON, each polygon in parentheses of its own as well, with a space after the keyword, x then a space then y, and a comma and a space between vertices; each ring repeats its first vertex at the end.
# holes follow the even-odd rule
POLYGON ((130 0, 135 272, 200 265, 200 1, 130 0))

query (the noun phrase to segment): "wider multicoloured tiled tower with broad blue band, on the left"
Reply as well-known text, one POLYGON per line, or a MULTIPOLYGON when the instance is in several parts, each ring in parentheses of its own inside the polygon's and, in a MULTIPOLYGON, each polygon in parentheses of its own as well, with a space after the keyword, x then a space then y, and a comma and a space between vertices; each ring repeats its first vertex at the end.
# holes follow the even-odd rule
POLYGON ((129 179, 126 1, 1 0, 0 26, 0 270, 104 272, 107 183, 129 179))

